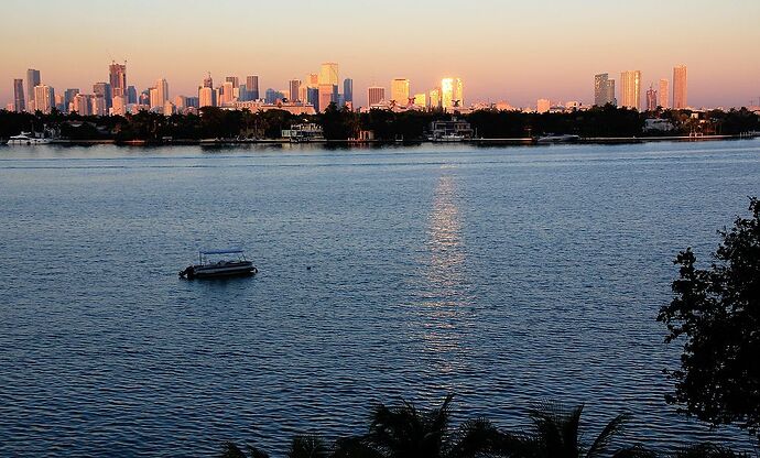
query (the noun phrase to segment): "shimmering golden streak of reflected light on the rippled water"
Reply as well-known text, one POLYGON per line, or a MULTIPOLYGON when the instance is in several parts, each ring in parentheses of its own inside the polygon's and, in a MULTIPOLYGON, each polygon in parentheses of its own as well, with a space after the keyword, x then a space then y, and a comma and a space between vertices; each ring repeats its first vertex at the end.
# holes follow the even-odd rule
POLYGON ((422 285, 420 318, 428 357, 441 372, 463 368, 462 337, 468 327, 471 305, 466 288, 465 252, 457 187, 452 175, 443 175, 435 187, 425 242, 426 269, 422 285))

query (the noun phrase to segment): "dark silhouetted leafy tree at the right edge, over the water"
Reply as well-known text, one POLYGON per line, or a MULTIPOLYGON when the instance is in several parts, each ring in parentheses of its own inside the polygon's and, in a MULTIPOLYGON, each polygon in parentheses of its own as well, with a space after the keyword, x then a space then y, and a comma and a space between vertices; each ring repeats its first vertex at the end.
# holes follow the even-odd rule
POLYGON ((760 201, 749 219, 719 231, 723 242, 709 269, 697 269, 691 249, 675 260, 673 301, 658 319, 671 342, 684 338, 681 368, 670 372, 667 402, 713 425, 760 427, 760 201))

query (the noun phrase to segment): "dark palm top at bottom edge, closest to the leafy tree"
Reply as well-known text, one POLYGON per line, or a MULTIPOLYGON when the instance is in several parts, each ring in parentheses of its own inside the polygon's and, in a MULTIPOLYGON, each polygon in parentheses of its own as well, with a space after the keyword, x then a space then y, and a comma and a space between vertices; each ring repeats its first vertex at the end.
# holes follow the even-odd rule
POLYGON ((583 405, 566 410, 558 404, 547 403, 529 412, 534 430, 522 438, 522 447, 515 456, 535 458, 600 458, 647 456, 637 447, 610 450, 612 440, 619 435, 630 414, 612 418, 601 433, 587 446, 580 441, 580 415, 583 405))

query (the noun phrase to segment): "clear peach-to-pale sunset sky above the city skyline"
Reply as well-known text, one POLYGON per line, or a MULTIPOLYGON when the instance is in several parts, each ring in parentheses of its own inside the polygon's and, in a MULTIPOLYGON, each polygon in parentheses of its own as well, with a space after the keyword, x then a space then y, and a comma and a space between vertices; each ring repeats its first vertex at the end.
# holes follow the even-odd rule
MULTIPOLYGON (((366 88, 397 77, 422 92, 464 80, 467 105, 593 102, 594 75, 642 72, 643 91, 688 67, 688 105, 740 107, 760 97, 760 0, 2 0, 0 102, 12 79, 41 70, 56 94, 91 94, 111 59, 138 90, 166 78, 197 95, 206 72, 259 75, 260 90, 337 62, 366 88), (119 8, 117 8, 117 6, 119 8)), ((24 83, 25 84, 25 83, 24 83)), ((619 87, 618 87, 619 90, 619 87)), ((388 92, 387 92, 388 94, 388 92)))

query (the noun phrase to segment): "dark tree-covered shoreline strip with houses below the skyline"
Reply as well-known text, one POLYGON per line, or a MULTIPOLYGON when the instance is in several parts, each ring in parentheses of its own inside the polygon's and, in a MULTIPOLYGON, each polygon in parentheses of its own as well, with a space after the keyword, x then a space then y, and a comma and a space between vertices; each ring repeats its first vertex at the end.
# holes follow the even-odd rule
MULTIPOLYGON (((332 103, 317 115, 285 110, 252 112, 216 107, 198 115, 140 111, 126 116, 45 115, 0 110, 0 139, 20 132, 61 142, 162 144, 202 142, 420 142, 469 140, 530 142, 542 135, 577 135, 584 141, 658 138, 754 137, 760 115, 746 108, 639 112, 612 105, 571 112, 522 112, 482 109, 466 115, 443 110, 373 109, 355 112, 332 103)), ((4 141, 3 141, 4 143, 4 141)))

